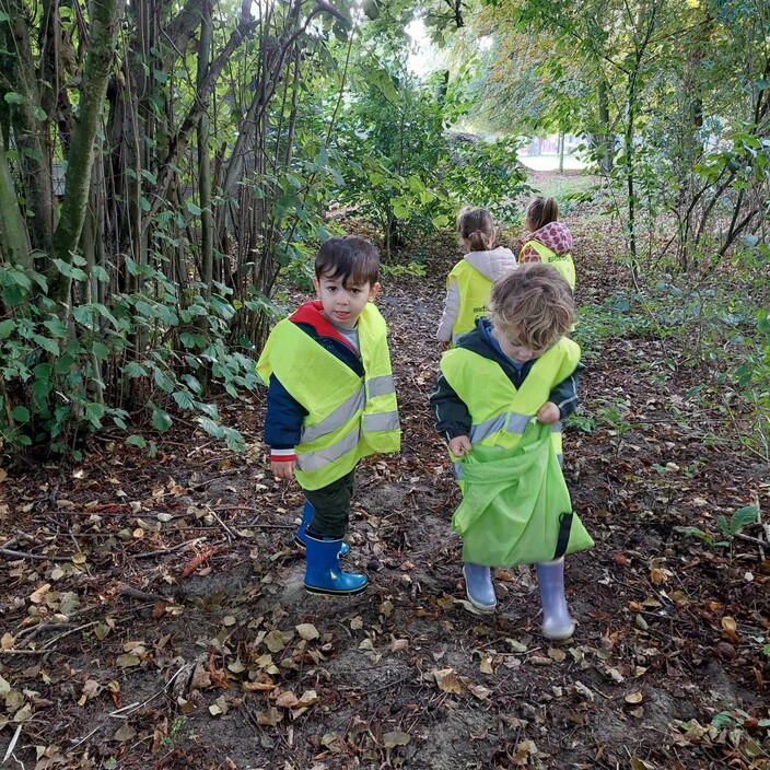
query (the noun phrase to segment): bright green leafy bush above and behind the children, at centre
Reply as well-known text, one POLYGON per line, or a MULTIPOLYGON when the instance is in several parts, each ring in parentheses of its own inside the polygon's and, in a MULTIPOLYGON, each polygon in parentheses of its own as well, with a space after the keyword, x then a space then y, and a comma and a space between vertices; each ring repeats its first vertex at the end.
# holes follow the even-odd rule
POLYGON ((358 66, 361 77, 332 138, 345 159, 345 184, 334 197, 381 229, 388 253, 406 237, 453 223, 466 203, 515 219, 513 200, 529 189, 516 143, 448 131, 468 109, 469 69, 451 81, 439 73, 419 82, 405 47, 393 42, 376 61, 362 54, 358 66))

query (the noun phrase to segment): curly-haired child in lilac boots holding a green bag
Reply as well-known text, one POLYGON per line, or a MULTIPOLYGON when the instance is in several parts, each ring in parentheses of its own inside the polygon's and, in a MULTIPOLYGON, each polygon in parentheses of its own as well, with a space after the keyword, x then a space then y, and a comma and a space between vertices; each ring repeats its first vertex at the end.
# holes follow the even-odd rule
POLYGON ((561 422, 578 406, 580 348, 562 335, 572 292, 548 265, 521 265, 494 283, 489 318, 446 351, 431 394, 450 444, 463 502, 452 525, 463 537, 468 599, 497 606, 491 570, 537 564, 542 633, 568 639, 564 553, 590 548, 561 472, 561 422))

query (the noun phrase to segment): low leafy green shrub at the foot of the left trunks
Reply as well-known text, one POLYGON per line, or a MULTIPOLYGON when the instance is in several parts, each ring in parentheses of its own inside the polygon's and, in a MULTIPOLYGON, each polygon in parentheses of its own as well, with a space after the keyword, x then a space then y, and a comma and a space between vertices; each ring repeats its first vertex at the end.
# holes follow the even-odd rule
MULTIPOLYGON (((81 268, 71 271, 78 283, 85 282, 81 268)), ((233 398, 257 384, 253 360, 226 342, 235 313, 226 289, 209 302, 196 293, 180 306, 176 288, 161 271, 145 273, 153 282, 144 291, 114 295, 109 306, 78 305, 61 319, 45 295, 30 301, 33 284, 45 284, 43 276, 0 265, 11 314, 0 323, 0 436, 8 448, 79 456, 84 436, 107 425, 143 448, 129 417, 139 393, 155 430, 171 429, 170 410, 190 412, 205 431, 243 448, 237 431, 221 425, 215 405, 205 400, 202 383, 206 378, 233 398), (131 340, 140 330, 150 346, 137 353, 131 340)))

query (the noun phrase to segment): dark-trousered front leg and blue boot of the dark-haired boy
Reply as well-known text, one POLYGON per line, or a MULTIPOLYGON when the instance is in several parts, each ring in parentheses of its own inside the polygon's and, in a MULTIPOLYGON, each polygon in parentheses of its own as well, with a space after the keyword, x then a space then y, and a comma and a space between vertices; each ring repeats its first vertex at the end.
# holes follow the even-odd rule
POLYGON ((323 489, 305 490, 313 518, 305 530, 305 588, 313 594, 359 594, 366 575, 342 572, 339 565, 342 535, 348 526, 355 471, 323 489))

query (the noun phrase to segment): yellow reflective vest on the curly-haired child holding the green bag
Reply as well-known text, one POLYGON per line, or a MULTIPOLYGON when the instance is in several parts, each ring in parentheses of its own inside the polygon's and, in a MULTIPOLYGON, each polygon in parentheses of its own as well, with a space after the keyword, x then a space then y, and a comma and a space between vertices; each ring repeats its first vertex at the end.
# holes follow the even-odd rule
MULTIPOLYGON (((551 390, 575 371, 579 361, 578 343, 562 337, 535 361, 518 389, 498 363, 465 348, 447 350, 441 358, 441 371, 468 408, 471 446, 510 448, 518 443, 551 390)), ((551 425, 551 439, 561 462, 560 421, 551 425)), ((458 479, 462 466, 455 462, 458 479)))

